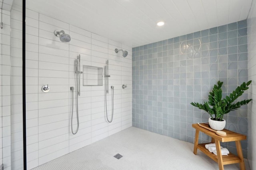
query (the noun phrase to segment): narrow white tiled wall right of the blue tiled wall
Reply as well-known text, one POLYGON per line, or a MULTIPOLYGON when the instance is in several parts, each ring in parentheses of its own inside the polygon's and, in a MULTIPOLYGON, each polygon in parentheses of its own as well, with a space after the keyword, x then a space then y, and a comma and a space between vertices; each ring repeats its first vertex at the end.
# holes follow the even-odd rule
POLYGON ((248 42, 248 79, 252 80, 248 97, 252 102, 248 105, 248 161, 250 168, 256 169, 256 1, 252 2, 252 8, 247 19, 248 42))

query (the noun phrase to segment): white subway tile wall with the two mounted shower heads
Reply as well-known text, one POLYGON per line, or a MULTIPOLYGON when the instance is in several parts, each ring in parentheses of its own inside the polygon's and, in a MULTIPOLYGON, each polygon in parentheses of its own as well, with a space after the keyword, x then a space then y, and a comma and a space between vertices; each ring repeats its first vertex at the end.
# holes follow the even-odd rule
MULTIPOLYGON (((18 62, 17 62, 18 63, 18 62)), ((111 117, 111 89, 107 95, 111 117)), ((26 126, 28 169, 68 154, 92 142, 132 126, 132 48, 76 26, 26 9, 26 126), (71 36, 60 42, 54 30, 71 36), (115 48, 128 51, 126 58, 115 48), (78 97, 78 133, 70 129, 72 93, 75 87, 75 59, 82 65, 104 67, 109 60, 109 89, 114 86, 114 119, 107 123, 103 86, 82 86, 78 97), (127 84, 122 89, 122 84, 127 84), (50 91, 43 93, 43 85, 50 91)), ((74 100, 76 129, 76 100, 74 100)))

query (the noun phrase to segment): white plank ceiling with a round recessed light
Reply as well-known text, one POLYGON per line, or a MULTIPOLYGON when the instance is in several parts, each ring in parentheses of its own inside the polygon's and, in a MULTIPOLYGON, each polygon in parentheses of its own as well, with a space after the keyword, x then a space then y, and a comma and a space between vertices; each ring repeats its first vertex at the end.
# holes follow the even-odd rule
POLYGON ((26 0, 26 8, 137 47, 247 18, 252 0, 26 0), (164 21, 162 27, 156 26, 164 21))

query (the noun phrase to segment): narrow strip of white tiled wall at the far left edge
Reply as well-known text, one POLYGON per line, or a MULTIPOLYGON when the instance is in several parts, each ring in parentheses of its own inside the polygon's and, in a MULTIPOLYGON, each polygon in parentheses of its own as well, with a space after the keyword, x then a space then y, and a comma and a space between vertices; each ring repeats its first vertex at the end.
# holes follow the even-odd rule
POLYGON ((10 11, 2 10, 0 29, 0 164, 11 169, 11 94, 10 94, 10 11))

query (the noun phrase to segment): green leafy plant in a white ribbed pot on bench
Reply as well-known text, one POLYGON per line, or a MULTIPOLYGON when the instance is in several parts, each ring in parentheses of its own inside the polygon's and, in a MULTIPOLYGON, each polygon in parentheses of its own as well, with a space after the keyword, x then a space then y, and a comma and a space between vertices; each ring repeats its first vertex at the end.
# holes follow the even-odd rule
POLYGON ((249 89, 249 85, 252 81, 247 83, 242 83, 238 86, 229 96, 222 99, 222 89, 221 86, 223 82, 218 81, 218 85, 214 85, 212 92, 208 95, 208 101, 204 104, 200 103, 190 103, 194 107, 203 109, 211 116, 209 118, 209 125, 214 130, 222 130, 226 125, 226 121, 223 116, 230 111, 236 110, 242 105, 247 105, 252 99, 236 101, 236 99, 241 96, 245 90, 249 89), (236 101, 236 103, 234 103, 236 101))

